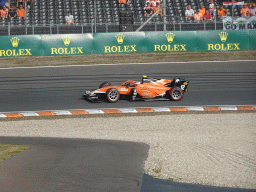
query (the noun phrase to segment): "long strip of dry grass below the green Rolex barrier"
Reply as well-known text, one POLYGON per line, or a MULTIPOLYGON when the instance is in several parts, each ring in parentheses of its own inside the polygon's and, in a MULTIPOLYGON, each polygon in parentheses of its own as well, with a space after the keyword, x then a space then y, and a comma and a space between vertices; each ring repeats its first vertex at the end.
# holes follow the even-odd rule
POLYGON ((256 60, 256 51, 129 53, 0 58, 0 68, 62 65, 256 60))

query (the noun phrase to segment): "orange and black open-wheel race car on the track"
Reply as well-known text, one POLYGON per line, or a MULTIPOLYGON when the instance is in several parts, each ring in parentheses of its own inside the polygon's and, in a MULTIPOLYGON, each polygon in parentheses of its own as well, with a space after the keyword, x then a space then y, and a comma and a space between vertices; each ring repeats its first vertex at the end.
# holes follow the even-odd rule
POLYGON ((142 82, 128 80, 122 85, 111 85, 104 82, 99 89, 86 91, 84 98, 91 102, 107 100, 111 103, 117 102, 120 97, 135 100, 174 100, 179 101, 183 98, 184 92, 187 92, 189 81, 183 78, 155 79, 142 77, 142 82))

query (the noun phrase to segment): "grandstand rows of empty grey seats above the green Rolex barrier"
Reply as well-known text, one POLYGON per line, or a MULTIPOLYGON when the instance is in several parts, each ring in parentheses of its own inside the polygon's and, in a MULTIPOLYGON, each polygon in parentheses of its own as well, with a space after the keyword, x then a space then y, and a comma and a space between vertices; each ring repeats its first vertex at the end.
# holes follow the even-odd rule
MULTIPOLYGON (((32 6, 26 6, 25 17, 9 17, 0 20, 0 35, 25 34, 63 34, 97 33, 120 31, 120 14, 132 14, 130 31, 139 28, 150 16, 144 17, 144 0, 129 0, 128 4, 119 4, 118 0, 33 0, 32 6), (75 24, 65 25, 65 16, 70 12, 75 24)), ((223 28, 221 19, 194 23, 185 19, 188 5, 197 10, 200 5, 208 8, 210 0, 161 0, 162 17, 154 17, 141 29, 142 31, 190 31, 219 30, 223 28)), ((9 0, 16 7, 16 0, 9 0)), ((214 1, 217 10, 219 1, 214 1)), ((252 3, 248 3, 251 8, 252 3)), ((224 5, 228 16, 241 16, 242 7, 224 5)), ((17 10, 17 9, 16 9, 17 10)), ((125 31, 125 28, 122 28, 125 31)))

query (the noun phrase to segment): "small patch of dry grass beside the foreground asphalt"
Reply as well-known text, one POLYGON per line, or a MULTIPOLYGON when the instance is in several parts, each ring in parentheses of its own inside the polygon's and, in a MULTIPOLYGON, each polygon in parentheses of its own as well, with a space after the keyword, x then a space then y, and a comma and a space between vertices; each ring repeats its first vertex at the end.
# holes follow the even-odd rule
POLYGON ((13 155, 28 149, 27 145, 11 145, 0 143, 0 162, 9 159, 13 155))

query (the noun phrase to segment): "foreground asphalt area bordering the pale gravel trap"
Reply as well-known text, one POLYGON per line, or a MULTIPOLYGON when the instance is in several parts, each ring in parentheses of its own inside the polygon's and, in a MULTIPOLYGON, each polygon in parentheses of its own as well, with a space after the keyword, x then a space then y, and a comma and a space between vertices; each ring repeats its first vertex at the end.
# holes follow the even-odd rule
POLYGON ((61 138, 0 137, 30 149, 0 163, 1 192, 251 192, 178 183, 143 174, 143 143, 61 138))

